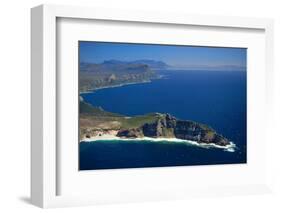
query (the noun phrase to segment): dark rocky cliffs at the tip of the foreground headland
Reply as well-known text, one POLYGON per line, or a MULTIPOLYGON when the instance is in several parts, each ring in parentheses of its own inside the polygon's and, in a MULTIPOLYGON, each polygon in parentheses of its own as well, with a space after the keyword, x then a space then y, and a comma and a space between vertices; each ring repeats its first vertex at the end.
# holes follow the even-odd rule
POLYGON ((139 128, 120 130, 117 136, 126 138, 175 137, 198 143, 214 143, 220 146, 230 144, 228 139, 217 134, 212 128, 193 121, 178 120, 170 114, 161 114, 155 122, 145 123, 139 128))

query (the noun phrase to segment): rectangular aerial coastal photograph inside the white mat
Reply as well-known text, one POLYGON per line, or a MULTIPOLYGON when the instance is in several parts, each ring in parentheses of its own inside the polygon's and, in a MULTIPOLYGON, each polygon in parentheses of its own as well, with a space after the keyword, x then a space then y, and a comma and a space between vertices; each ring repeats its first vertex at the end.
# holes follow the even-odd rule
POLYGON ((247 163, 247 48, 78 41, 78 53, 80 171, 247 163))

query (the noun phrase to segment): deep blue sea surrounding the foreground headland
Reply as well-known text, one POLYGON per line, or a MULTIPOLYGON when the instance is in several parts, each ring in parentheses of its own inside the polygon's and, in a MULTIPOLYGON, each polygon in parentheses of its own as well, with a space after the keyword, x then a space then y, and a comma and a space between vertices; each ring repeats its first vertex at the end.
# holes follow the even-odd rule
POLYGON ((83 94, 85 101, 128 116, 170 113, 213 127, 233 141, 227 152, 186 144, 100 141, 80 144, 80 169, 246 162, 246 72, 166 71, 151 83, 83 94))

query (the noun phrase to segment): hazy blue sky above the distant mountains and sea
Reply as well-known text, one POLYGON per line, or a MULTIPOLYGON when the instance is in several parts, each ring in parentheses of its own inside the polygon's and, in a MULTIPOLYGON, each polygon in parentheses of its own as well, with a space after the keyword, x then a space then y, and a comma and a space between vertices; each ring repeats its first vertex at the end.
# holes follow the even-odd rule
POLYGON ((175 67, 246 67, 245 48, 217 48, 175 45, 127 44, 80 41, 80 62, 151 59, 175 67))

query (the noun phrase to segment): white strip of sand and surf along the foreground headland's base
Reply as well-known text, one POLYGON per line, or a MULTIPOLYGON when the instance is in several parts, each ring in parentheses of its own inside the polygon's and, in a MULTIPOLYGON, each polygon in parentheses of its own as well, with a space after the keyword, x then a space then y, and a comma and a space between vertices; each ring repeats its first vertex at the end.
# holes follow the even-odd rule
POLYGON ((84 138, 80 140, 80 143, 94 143, 96 141, 144 141, 144 142, 174 142, 174 143, 186 143, 191 144, 194 146, 199 146, 201 148, 218 148, 218 149, 224 149, 228 152, 235 152, 236 145, 233 142, 230 142, 229 145, 226 146, 220 146, 214 143, 198 143, 196 141, 190 141, 190 140, 183 140, 178 138, 150 138, 150 137, 143 137, 143 138, 120 138, 115 135, 102 135, 102 136, 95 136, 91 138, 84 138))

